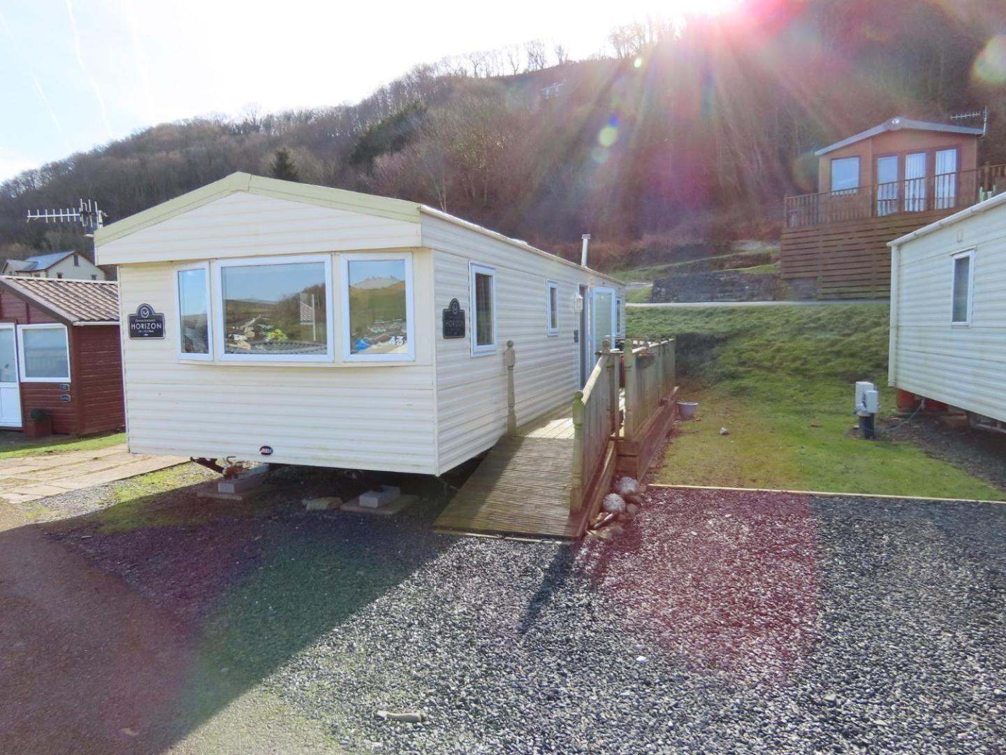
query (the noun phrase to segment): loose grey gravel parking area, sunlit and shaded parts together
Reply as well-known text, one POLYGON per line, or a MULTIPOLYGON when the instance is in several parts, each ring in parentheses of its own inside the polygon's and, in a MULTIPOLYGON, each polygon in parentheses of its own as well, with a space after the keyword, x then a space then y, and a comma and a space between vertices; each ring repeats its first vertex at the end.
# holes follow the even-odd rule
MULTIPOLYGON (((305 513, 304 489, 209 520, 105 534, 82 517, 50 537, 191 636, 179 713, 134 748, 248 695, 303 728, 283 752, 320 751, 309 732, 388 753, 1006 741, 1006 504, 651 488, 615 540, 567 546, 436 535, 436 496, 390 519, 305 513)), ((151 500, 171 522, 183 498, 151 500)), ((49 725, 44 708, 19 716, 49 725)), ((236 741, 229 726, 220 741, 236 741)), ((243 717, 262 749, 240 751, 268 751, 266 726, 243 717)))

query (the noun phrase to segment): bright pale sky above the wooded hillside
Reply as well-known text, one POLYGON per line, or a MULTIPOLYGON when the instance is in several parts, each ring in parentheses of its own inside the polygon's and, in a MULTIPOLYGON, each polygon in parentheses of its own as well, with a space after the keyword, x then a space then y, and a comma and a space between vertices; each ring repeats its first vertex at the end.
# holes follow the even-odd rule
POLYGON ((0 0, 0 181, 165 121, 356 102, 421 62, 736 0, 0 0))

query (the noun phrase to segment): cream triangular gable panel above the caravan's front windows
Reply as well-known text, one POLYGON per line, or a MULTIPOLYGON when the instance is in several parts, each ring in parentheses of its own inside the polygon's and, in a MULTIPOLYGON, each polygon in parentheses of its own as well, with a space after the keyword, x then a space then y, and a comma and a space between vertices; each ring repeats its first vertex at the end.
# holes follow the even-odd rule
POLYGON ((420 223, 236 192, 102 244, 102 265, 418 246, 420 223))

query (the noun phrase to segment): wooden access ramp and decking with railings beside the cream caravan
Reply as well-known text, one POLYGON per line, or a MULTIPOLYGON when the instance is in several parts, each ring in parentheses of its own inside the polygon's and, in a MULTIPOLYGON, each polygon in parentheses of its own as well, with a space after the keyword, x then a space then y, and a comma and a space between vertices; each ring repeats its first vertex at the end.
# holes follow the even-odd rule
POLYGON ((471 534, 578 538, 601 509, 617 469, 645 472, 675 415, 674 341, 607 341, 582 391, 517 425, 512 366, 507 428, 436 525, 471 534), (625 390, 618 366, 625 364, 625 390), (624 456, 622 459, 620 457, 624 456))

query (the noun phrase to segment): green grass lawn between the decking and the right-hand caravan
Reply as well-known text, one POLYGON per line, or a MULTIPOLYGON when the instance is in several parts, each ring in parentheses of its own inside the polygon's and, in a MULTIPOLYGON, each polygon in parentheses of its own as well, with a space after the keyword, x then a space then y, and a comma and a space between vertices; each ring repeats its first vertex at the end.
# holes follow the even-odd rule
POLYGON ((660 482, 1001 500, 1002 491, 908 442, 851 432, 853 387, 872 381, 881 414, 887 306, 630 310, 630 336, 677 338, 683 423, 660 482), (720 435, 725 427, 729 435, 720 435))

